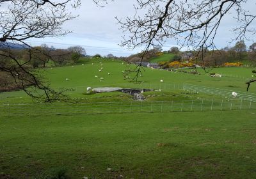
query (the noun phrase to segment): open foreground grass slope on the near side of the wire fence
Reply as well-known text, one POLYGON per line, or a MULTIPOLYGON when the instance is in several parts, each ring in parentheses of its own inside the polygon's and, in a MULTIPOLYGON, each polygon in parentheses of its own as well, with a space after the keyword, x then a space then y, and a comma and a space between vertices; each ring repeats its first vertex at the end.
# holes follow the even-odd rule
POLYGON ((2 118, 0 176, 254 178, 255 113, 2 118))

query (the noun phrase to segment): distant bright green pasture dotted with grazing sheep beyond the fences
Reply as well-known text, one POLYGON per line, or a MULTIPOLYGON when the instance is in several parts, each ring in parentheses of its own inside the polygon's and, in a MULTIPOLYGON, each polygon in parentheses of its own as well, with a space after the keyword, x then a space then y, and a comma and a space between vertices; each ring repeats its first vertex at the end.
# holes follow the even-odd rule
MULTIPOLYGON (((42 73, 49 79, 48 81, 51 82, 52 88, 72 89, 68 91, 68 95, 72 98, 79 98, 81 102, 93 102, 93 100, 98 102, 101 100, 104 102, 106 100, 105 96, 108 95, 86 95, 86 88, 88 86, 92 88, 104 86, 153 88, 162 89, 161 91, 163 92, 174 93, 173 89, 179 90, 184 83, 188 83, 246 92, 245 82, 252 78, 253 70, 253 68, 244 67, 210 68, 207 69, 209 72, 228 75, 223 77, 210 77, 209 73, 205 73, 204 70, 200 68, 197 69, 200 75, 144 68, 143 76, 138 78, 139 82, 136 84, 129 81, 129 79, 125 79, 122 71, 127 70, 127 68, 127 64, 122 64, 122 61, 112 61, 111 59, 81 59, 77 65, 46 68, 42 73), (99 72, 100 68, 103 68, 101 72, 99 72), (108 75, 108 73, 110 74, 108 75), (98 77, 95 77, 95 75, 98 77), (104 79, 100 81, 100 77, 104 79), (68 79, 68 81, 66 81, 66 79, 68 79), (164 82, 160 82, 161 79, 163 79, 164 82), (102 96, 104 96, 104 98, 101 98, 102 96)), ((134 65, 131 65, 131 68, 134 68, 134 65)), ((133 75, 134 74, 131 74, 129 76, 132 78, 134 77, 133 75)), ((256 84, 252 84, 250 92, 256 93, 256 84)), ((122 93, 110 95, 111 98, 113 98, 113 96, 115 96, 115 100, 129 100, 129 96, 122 93)), ((0 93, 0 100, 2 103, 31 102, 31 99, 23 91, 0 93)), ((111 99, 107 101, 109 102, 111 99)))

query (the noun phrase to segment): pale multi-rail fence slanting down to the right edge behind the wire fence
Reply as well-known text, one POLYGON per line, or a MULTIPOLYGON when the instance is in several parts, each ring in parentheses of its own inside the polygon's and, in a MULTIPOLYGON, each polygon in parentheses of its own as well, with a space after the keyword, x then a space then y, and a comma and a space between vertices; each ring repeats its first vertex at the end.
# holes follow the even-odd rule
MULTIPOLYGON (((197 86, 197 85, 193 85, 193 84, 184 84, 183 89, 185 89, 187 91, 207 93, 207 94, 218 95, 218 96, 227 97, 227 98, 232 98, 232 92, 233 92, 228 89, 211 88, 211 87, 206 87, 206 86, 197 86)), ((254 93, 246 93, 246 92, 241 92, 241 91, 235 91, 235 92, 237 93, 236 98, 238 98, 238 99, 256 102, 256 94, 254 94, 254 93)))

